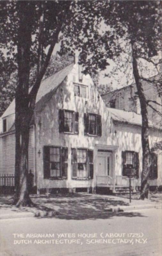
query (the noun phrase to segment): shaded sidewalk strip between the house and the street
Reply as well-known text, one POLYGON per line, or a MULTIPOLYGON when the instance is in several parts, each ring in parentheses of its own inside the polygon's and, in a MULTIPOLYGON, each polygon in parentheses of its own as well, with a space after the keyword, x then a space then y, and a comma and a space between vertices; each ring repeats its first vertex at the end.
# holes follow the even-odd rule
POLYGON ((38 206, 16 208, 11 205, 12 196, 0 196, 0 219, 23 217, 55 217, 60 219, 106 218, 110 214, 133 212, 148 208, 162 208, 162 193, 150 193, 150 199, 139 200, 139 195, 112 196, 88 193, 73 195, 32 195, 38 206))

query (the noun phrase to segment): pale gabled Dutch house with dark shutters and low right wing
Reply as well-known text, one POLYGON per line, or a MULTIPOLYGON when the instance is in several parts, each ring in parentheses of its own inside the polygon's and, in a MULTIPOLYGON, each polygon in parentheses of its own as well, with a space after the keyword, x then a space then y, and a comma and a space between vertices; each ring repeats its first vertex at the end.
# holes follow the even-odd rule
MULTIPOLYGON (((14 174, 15 101, 0 119, 0 174, 14 174)), ((89 75, 71 64, 44 79, 30 125, 28 170, 37 192, 88 191, 140 187, 141 115, 109 108, 89 75)), ((150 147, 162 130, 150 126, 150 147)), ((151 154, 150 185, 162 185, 162 155, 151 154)), ((3 181, 2 181, 3 182, 3 181)), ((1 184, 3 185, 3 183, 1 184)))

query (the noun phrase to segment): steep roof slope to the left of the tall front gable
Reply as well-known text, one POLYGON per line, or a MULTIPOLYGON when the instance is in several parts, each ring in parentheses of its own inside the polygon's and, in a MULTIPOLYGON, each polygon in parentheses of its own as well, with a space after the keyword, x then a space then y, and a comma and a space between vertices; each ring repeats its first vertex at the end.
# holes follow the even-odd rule
MULTIPOLYGON (((36 96, 35 110, 40 111, 44 105, 50 100, 53 92, 56 90, 58 85, 65 79, 69 72, 73 68, 73 63, 61 69, 60 71, 54 73, 53 75, 42 80, 40 88, 36 96)), ((31 88, 30 88, 31 90, 31 88)), ((15 113, 15 99, 9 105, 9 107, 4 111, 2 118, 15 113)))

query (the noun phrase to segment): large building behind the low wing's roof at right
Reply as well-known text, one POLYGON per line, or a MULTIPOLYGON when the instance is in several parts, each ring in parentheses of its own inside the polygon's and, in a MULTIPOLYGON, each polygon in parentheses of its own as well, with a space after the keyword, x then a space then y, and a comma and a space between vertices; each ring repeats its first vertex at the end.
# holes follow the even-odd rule
MULTIPOLYGON (((151 81, 160 83, 159 75, 149 78, 151 81)), ((148 118, 157 127, 162 127, 162 117, 158 114, 162 113, 162 98, 160 97, 160 92, 154 86, 154 83, 149 83, 147 81, 142 81, 143 91, 147 100, 150 100, 148 106, 148 118), (158 104, 156 104, 157 102, 158 104)), ((162 86, 162 85, 161 85, 162 86)), ((124 86, 120 89, 108 92, 102 95, 107 107, 117 108, 125 111, 133 111, 137 114, 141 114, 140 101, 137 94, 136 84, 130 84, 124 86)))

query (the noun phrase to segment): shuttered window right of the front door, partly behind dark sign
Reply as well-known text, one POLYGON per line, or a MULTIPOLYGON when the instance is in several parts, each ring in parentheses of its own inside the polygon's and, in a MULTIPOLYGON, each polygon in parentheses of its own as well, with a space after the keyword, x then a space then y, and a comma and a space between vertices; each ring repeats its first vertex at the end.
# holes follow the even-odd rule
POLYGON ((139 154, 135 151, 122 151, 122 175, 127 176, 127 170, 135 169, 139 177, 139 154))

